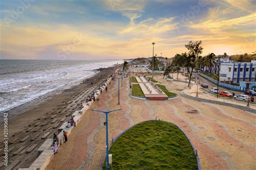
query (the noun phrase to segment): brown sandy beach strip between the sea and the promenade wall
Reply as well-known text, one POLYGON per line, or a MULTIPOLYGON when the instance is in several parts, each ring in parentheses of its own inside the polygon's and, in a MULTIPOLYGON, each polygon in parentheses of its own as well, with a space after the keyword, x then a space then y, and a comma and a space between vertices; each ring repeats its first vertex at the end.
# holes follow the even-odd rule
MULTIPOLYGON (((9 161, 14 161, 19 157, 18 159, 23 160, 23 167, 29 166, 36 159, 37 154, 14 155, 14 151, 19 147, 29 147, 33 144, 39 147, 44 142, 41 136, 45 132, 51 132, 51 134, 57 132, 57 127, 64 121, 68 121, 69 115, 78 110, 80 103, 84 103, 90 92, 97 89, 116 68, 117 66, 100 69, 95 76, 83 80, 70 89, 59 90, 48 97, 36 99, 8 111, 12 114, 26 109, 25 112, 9 118, 9 161), (52 123, 54 120, 58 121, 52 123), (27 136, 35 139, 21 142, 27 136)), ((3 131, 3 126, 0 130, 3 131)), ((3 133, 0 137, 3 139, 3 133)), ((0 152, 3 154, 3 149, 0 152)))

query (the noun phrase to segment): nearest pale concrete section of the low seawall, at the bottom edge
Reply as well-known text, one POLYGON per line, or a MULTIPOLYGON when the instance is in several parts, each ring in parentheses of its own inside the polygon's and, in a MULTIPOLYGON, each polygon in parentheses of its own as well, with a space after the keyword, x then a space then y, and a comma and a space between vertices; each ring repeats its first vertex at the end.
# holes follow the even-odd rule
POLYGON ((35 170, 35 169, 46 169, 50 161, 53 158, 53 151, 44 151, 39 157, 33 162, 29 168, 19 168, 19 170, 35 170))

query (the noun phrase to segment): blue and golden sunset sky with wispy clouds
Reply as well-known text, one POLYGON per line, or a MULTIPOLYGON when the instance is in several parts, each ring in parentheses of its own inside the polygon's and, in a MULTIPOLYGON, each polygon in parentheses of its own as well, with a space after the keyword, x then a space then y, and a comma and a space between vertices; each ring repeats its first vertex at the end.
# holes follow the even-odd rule
POLYGON ((173 57, 252 53, 255 0, 1 0, 0 59, 173 57))

